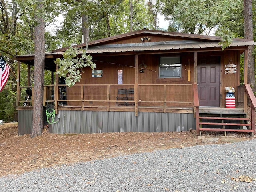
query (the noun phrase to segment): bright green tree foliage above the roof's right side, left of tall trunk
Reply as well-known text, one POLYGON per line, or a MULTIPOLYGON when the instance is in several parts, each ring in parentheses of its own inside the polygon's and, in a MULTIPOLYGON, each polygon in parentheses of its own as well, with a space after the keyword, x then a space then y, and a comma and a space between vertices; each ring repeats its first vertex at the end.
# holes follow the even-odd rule
POLYGON ((243 5, 241 0, 181 0, 176 6, 170 4, 174 25, 178 24, 183 32, 197 34, 208 34, 212 28, 233 20, 243 5))

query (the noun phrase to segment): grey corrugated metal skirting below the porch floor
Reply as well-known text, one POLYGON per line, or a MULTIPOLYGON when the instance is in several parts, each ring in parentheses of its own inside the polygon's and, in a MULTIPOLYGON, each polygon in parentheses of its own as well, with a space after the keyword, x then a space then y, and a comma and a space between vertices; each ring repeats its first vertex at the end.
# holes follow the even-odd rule
MULTIPOLYGON (((30 134, 32 110, 18 111, 19 135, 30 134)), ((106 112, 59 110, 49 126, 51 133, 102 133, 102 132, 167 132, 195 129, 195 118, 190 113, 106 112)))

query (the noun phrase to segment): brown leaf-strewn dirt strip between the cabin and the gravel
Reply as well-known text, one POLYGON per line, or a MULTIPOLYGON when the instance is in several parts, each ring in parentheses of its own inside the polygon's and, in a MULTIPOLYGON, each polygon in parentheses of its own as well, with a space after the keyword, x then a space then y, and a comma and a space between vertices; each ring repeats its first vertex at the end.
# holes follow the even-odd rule
MULTIPOLYGON (((223 133, 204 133, 206 138, 223 133)), ((250 140, 248 133, 228 133, 236 140, 250 140)), ((218 143, 230 142, 220 139, 218 143)), ((140 152, 211 144, 204 143, 196 131, 158 133, 50 134, 18 136, 17 123, 0 125, 0 176, 20 174, 37 168, 93 161, 140 152)))

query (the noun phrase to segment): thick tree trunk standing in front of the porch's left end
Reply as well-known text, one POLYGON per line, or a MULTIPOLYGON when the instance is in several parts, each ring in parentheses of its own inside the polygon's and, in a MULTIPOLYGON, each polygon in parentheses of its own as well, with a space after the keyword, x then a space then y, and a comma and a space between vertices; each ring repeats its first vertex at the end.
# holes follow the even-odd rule
MULTIPOLYGON (((42 2, 37 5, 38 10, 44 9, 42 2)), ((31 137, 42 134, 43 118, 43 86, 44 86, 44 19, 39 14, 35 16, 35 64, 34 64, 34 107, 31 137)))

